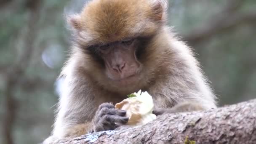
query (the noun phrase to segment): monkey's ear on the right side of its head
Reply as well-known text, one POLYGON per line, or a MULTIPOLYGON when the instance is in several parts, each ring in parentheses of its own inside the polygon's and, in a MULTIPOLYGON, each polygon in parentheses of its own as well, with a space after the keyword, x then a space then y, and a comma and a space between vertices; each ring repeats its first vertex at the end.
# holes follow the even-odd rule
POLYGON ((165 21, 168 11, 168 0, 154 0, 152 11, 154 19, 157 21, 165 21))

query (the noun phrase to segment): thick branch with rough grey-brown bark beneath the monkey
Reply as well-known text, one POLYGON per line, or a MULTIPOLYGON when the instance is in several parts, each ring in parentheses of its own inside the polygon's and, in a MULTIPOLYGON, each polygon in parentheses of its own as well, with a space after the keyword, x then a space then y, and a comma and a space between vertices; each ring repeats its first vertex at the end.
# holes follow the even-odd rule
POLYGON ((147 125, 63 144, 256 144, 256 99, 205 112, 159 116, 147 125))

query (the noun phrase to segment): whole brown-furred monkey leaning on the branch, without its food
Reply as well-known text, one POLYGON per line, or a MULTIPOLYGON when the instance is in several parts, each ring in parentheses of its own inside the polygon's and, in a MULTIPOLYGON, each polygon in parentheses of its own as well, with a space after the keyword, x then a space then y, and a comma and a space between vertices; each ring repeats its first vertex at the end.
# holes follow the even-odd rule
POLYGON ((73 43, 45 144, 120 128, 128 117, 114 104, 140 89, 152 96, 155 115, 217 107, 192 48, 168 27, 167 11, 168 0, 91 0, 68 16, 73 43))

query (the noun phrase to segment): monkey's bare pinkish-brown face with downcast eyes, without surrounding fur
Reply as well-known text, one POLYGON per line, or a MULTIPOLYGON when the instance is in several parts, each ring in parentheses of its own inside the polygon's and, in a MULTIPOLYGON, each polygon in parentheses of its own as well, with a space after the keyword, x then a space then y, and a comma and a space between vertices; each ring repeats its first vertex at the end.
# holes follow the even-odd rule
POLYGON ((89 48, 101 60, 107 79, 112 84, 127 86, 141 78, 142 64, 138 60, 140 44, 139 39, 131 38, 89 48))

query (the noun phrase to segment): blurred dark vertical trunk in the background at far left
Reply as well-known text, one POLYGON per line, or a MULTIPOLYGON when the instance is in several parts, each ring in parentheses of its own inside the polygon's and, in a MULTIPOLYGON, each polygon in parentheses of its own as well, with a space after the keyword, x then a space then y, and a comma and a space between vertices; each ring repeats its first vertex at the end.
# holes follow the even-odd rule
MULTIPOLYGON (((16 101, 14 92, 16 91, 17 83, 24 77, 25 70, 29 66, 30 58, 32 56, 34 47, 34 40, 36 37, 36 23, 40 18, 40 4, 41 0, 27 0, 25 7, 29 13, 29 21, 27 22, 28 31, 24 37, 24 50, 20 59, 16 63, 7 68, 5 96, 5 117, 3 117, 3 141, 4 144, 14 144, 12 136, 12 128, 16 117, 16 108, 19 103, 16 101)), ((19 38, 19 37, 18 37, 19 38)))

